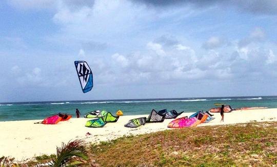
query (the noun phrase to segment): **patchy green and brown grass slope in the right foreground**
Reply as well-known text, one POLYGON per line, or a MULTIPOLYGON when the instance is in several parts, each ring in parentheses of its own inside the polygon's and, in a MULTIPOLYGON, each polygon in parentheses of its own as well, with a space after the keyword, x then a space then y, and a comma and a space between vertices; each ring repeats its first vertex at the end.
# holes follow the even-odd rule
POLYGON ((101 166, 272 166, 277 122, 174 129, 90 146, 101 166))

